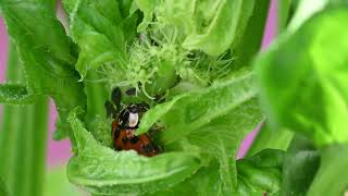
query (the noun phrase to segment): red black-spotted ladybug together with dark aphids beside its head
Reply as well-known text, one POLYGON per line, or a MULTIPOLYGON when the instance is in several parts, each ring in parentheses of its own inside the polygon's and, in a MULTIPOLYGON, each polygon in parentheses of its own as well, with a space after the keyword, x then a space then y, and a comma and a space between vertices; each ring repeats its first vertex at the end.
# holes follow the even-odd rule
MULTIPOLYGON (((117 109, 121 108, 121 97, 120 88, 114 88, 111 94, 111 100, 117 109)), ((113 148, 117 151, 135 150, 139 155, 147 157, 160 154, 160 148, 153 144, 148 134, 135 135, 136 130, 139 127, 139 120, 149 109, 149 106, 146 103, 130 103, 123 108, 121 112, 116 112, 113 105, 110 101, 105 102, 108 117, 113 118, 111 128, 113 148)))

